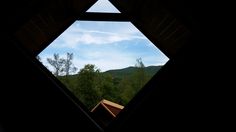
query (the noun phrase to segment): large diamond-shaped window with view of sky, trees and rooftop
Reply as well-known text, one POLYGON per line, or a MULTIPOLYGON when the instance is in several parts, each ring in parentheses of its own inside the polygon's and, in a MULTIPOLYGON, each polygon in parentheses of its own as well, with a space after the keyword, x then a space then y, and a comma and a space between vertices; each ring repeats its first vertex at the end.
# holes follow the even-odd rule
POLYGON ((103 126, 169 60, 131 22, 94 20, 75 21, 37 57, 103 126))

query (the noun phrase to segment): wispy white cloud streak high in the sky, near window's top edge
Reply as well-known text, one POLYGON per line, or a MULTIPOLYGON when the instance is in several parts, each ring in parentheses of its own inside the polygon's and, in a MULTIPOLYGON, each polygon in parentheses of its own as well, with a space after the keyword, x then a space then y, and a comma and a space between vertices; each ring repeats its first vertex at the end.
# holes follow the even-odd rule
MULTIPOLYGON (((94 27, 99 23, 94 22, 94 27)), ((111 23, 110 23, 111 24, 111 23)), ((110 25, 109 24, 109 25, 110 25)), ((80 44, 90 44, 90 45, 104 45, 104 44, 114 44, 121 41, 130 41, 133 39, 145 39, 141 33, 129 23, 123 24, 123 26, 114 26, 114 32, 106 32, 99 30, 83 29, 80 26, 73 24, 68 28, 63 34, 61 34, 57 40, 53 43, 54 47, 67 47, 75 48, 80 44)), ((103 27, 106 29, 106 26, 103 27)), ((111 30, 111 29, 110 29, 111 30)))

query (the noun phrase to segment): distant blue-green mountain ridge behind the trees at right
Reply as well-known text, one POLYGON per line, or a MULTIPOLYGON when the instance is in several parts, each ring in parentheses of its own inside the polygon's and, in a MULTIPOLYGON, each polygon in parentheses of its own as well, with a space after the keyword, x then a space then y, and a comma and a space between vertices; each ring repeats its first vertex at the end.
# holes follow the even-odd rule
MULTIPOLYGON (((162 66, 148 66, 144 68, 145 73, 148 76, 153 76, 162 66)), ((113 77, 122 78, 124 76, 132 75, 137 70, 137 67, 127 67, 123 69, 108 70, 104 74, 110 74, 113 77)))

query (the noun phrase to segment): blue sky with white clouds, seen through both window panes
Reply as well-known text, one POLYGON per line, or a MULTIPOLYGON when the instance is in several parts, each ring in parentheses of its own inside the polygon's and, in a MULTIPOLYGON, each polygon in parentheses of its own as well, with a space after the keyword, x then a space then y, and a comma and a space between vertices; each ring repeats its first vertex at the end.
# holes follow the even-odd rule
MULTIPOLYGON (((107 0, 101 1, 89 11, 117 12, 107 0)), ((168 61, 130 22, 76 21, 39 56, 52 70, 46 58, 52 58, 54 53, 65 57, 67 52, 74 54, 73 63, 78 69, 85 64, 95 64, 101 71, 121 69, 134 66, 138 58, 142 58, 145 66, 163 65, 168 61)))

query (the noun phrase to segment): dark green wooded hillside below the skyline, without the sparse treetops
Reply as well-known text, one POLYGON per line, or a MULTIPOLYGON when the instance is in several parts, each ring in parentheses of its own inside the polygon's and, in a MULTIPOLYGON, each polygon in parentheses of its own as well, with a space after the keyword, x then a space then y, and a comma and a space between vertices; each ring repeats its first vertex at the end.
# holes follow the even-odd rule
POLYGON ((88 109, 95 106, 103 98, 126 105, 161 67, 145 67, 145 74, 139 72, 137 67, 127 67, 101 72, 100 74, 59 76, 58 79, 88 109), (91 97, 93 99, 90 99, 91 97))

